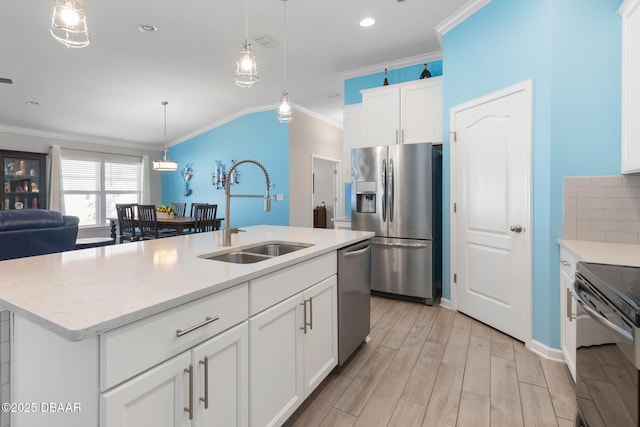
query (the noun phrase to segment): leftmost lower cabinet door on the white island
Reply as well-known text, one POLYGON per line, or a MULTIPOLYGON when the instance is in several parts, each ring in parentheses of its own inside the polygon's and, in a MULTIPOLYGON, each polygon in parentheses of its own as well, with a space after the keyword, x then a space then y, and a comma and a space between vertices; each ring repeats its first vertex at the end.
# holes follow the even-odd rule
POLYGON ((190 426, 189 374, 191 352, 182 353, 155 368, 103 393, 103 427, 190 426))

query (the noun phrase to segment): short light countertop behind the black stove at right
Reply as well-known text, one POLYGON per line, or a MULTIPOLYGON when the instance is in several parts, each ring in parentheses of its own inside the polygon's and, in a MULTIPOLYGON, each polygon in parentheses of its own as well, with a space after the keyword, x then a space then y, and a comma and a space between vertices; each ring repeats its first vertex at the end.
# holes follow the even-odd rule
POLYGON ((558 243, 579 261, 640 267, 640 245, 585 240, 559 240, 558 243))

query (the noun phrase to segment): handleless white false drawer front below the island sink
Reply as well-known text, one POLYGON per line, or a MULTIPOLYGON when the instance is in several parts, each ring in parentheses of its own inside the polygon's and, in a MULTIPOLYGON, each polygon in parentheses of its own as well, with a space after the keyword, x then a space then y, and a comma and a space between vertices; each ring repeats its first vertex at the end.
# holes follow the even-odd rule
POLYGON ((333 276, 337 269, 336 253, 331 252, 252 280, 249 282, 250 315, 253 316, 333 276))

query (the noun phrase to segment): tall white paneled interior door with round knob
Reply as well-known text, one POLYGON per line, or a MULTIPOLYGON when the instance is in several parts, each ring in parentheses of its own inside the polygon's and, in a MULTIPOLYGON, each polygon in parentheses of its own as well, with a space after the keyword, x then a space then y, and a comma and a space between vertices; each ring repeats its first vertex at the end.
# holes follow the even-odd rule
POLYGON ((531 338, 531 92, 527 81, 451 109, 452 303, 524 342, 531 338))

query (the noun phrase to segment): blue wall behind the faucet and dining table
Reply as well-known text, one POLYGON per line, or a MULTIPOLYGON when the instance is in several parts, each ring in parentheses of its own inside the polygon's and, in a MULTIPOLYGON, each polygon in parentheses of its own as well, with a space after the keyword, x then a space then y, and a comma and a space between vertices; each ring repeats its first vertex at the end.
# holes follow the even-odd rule
MULTIPOLYGON (((224 190, 211 184, 215 160, 226 164, 231 160, 255 159, 262 162, 274 184, 271 194, 284 194, 284 201, 272 201, 271 212, 264 212, 259 199, 231 199, 232 227, 255 224, 289 225, 289 127, 276 120, 273 110, 247 114, 218 128, 171 147, 171 160, 177 161, 177 172, 162 172, 162 203, 192 202, 218 204, 218 216, 224 216, 224 190), (192 195, 186 197, 180 170, 191 163, 194 171, 190 183, 192 195)), ((232 194, 264 194, 266 184, 260 168, 240 165, 240 184, 231 186, 232 194)))

